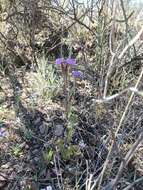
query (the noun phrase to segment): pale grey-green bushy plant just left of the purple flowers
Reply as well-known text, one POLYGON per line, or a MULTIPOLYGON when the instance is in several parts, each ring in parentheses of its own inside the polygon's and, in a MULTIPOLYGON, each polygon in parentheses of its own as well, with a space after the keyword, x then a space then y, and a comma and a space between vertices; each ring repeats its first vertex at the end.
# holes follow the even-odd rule
POLYGON ((36 72, 31 73, 31 88, 45 100, 51 99, 57 92, 60 82, 52 64, 43 56, 38 60, 36 72))

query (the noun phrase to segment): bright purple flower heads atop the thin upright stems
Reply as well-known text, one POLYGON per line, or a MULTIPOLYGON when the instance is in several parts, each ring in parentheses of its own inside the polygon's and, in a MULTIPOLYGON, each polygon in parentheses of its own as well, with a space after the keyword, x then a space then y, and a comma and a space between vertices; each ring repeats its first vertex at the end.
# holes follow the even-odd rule
MULTIPOLYGON (((67 59, 58 58, 56 59, 56 64, 62 66, 76 65, 76 60, 72 58, 67 58, 67 59)), ((82 78, 82 73, 81 71, 72 71, 72 76, 75 78, 82 78)))

